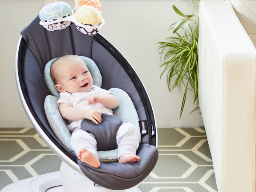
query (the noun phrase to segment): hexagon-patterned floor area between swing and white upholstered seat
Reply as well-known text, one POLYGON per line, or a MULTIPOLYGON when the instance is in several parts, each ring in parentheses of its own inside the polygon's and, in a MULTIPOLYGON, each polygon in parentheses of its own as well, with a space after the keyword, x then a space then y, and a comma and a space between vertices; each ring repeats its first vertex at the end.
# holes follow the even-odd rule
POLYGON ((142 192, 218 192, 204 128, 159 128, 159 157, 142 192))

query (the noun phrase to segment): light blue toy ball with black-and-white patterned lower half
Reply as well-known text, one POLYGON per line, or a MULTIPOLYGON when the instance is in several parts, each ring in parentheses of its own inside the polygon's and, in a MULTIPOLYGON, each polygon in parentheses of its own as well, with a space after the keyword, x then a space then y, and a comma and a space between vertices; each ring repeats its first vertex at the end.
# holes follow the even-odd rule
POLYGON ((67 3, 58 1, 44 6, 39 13, 39 18, 43 22, 42 25, 44 28, 46 28, 48 31, 56 31, 70 26, 71 21, 63 21, 63 18, 70 15, 72 15, 71 7, 67 3), (62 19, 62 21, 58 21, 60 19, 62 19), (56 22, 47 24, 47 22, 51 21, 56 22))

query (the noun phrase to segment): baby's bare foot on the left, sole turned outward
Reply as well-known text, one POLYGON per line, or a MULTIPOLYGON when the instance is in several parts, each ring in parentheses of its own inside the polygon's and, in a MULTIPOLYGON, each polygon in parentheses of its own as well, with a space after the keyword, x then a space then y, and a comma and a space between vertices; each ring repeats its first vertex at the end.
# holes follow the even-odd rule
POLYGON ((100 166, 98 156, 90 151, 87 151, 85 148, 81 148, 77 154, 77 158, 94 168, 98 168, 100 166))

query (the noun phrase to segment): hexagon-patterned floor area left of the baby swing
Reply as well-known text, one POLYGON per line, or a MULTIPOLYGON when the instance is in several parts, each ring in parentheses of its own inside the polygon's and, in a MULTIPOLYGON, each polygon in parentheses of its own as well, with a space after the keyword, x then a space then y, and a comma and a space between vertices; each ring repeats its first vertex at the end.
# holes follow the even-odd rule
POLYGON ((60 165, 34 128, 0 128, 0 190, 15 181, 58 171, 60 165))

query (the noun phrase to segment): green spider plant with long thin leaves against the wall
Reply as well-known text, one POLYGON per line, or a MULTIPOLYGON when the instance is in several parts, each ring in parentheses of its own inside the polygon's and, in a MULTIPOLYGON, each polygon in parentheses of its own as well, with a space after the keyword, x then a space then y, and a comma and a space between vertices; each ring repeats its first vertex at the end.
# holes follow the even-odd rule
MULTIPOLYGON (((159 42, 159 49, 161 50, 161 58, 163 57, 163 64, 160 67, 164 67, 162 78, 164 73, 167 74, 167 84, 169 91, 174 88, 178 88, 181 91, 182 84, 185 86, 183 93, 183 101, 180 109, 180 118, 183 112, 183 108, 186 101, 187 90, 194 91, 194 103, 197 102, 197 107, 192 111, 197 111, 198 106, 198 26, 199 26, 199 14, 196 9, 196 4, 191 0, 195 14, 184 15, 179 9, 172 3, 174 11, 183 17, 177 23, 170 26, 169 30, 173 30, 176 37, 167 38, 168 42, 159 42), (195 29, 189 25, 189 22, 195 23, 195 29), (184 25, 184 27, 183 27, 184 25), (183 29, 184 35, 177 33, 178 29, 183 29), (175 82, 172 84, 172 79, 175 82), (191 88, 190 88, 191 87, 191 88)), ((160 58, 160 60, 161 60, 160 58)), ((191 112, 191 113, 192 113, 191 112)), ((190 113, 189 113, 190 114, 190 113)))

